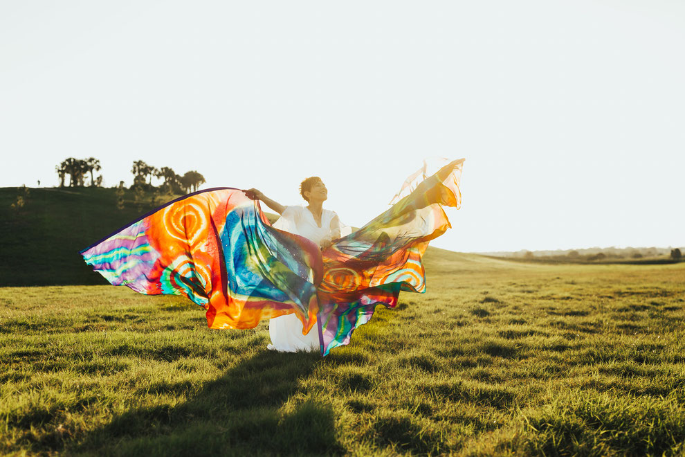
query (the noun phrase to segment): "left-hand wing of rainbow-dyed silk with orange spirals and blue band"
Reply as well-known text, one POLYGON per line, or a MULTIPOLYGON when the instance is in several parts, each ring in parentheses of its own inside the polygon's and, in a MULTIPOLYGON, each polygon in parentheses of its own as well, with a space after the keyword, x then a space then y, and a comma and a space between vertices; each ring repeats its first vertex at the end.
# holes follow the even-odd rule
POLYGON ((271 227, 257 201, 219 188, 172 201, 82 251, 113 285, 184 295, 210 328, 253 328, 294 312, 316 323, 316 244, 271 227))

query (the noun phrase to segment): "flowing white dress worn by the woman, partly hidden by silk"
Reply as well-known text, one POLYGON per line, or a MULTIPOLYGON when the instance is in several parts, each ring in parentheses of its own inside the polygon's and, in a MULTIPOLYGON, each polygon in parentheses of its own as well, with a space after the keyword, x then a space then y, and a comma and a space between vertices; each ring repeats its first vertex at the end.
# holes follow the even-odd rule
MULTIPOLYGON (((318 226, 314 220, 314 215, 306 206, 286 206, 280 219, 273 226, 309 238, 316 244, 320 244, 322 240, 331 235, 333 238, 338 238, 341 228, 334 211, 323 210, 321 226, 318 226)), ((271 350, 280 352, 319 350, 318 326, 313 325, 309 333, 303 335, 302 322, 295 314, 286 314, 270 319, 268 321, 268 334, 271 337, 271 344, 268 345, 268 348, 271 350)))

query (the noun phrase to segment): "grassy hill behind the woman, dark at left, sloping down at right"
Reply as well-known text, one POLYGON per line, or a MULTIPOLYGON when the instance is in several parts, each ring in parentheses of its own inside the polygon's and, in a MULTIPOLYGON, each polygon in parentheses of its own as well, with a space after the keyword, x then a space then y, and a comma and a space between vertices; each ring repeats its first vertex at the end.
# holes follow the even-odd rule
MULTIPOLYGON (((79 251, 160 206, 174 195, 136 203, 125 191, 117 209, 116 189, 32 188, 24 207, 12 209, 19 189, 0 188, 0 286, 100 285, 107 282, 85 265, 79 251)), ((269 219, 275 215, 268 214, 269 219)), ((502 268, 526 268, 506 260, 428 248, 426 270, 455 274, 502 268)))

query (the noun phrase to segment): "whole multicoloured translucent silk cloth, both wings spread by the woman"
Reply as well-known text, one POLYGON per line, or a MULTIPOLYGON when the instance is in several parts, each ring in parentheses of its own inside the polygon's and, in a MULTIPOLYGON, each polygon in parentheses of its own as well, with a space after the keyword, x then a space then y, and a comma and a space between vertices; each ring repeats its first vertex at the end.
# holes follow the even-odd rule
POLYGON ((349 343, 379 303, 424 292, 421 256, 450 228, 442 206, 459 207, 464 159, 426 177, 385 213, 320 251, 273 228, 242 190, 214 188, 176 199, 81 251, 113 285, 183 295, 210 328, 254 328, 295 314, 318 331, 322 355, 349 343))

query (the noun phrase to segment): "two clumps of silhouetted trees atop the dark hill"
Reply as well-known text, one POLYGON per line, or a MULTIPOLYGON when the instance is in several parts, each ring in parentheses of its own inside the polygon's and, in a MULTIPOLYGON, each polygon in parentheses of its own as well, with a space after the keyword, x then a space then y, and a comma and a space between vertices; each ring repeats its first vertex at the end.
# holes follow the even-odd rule
MULTIPOLYGON (((100 170, 102 170, 100 161, 95 157, 88 159, 69 157, 55 166, 57 176, 60 178, 60 187, 65 187, 67 175, 69 175, 68 187, 84 187, 86 184, 92 187, 102 187, 102 174, 95 177, 95 172, 100 170)), ((156 168, 142 160, 134 161, 131 173, 134 175, 131 188, 155 188, 152 185, 152 178, 155 177, 163 179, 163 183, 158 188, 177 194, 188 193, 191 190, 194 192, 206 182, 205 177, 195 170, 180 175, 169 167, 156 168)))

